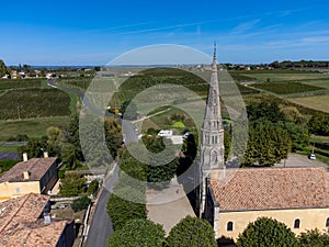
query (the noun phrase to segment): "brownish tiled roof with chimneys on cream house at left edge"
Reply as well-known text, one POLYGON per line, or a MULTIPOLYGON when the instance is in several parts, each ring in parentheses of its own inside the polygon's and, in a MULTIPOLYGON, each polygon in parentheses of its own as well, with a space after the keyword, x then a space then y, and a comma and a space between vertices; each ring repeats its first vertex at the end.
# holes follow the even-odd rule
POLYGON ((30 181, 39 181, 56 159, 57 158, 32 158, 27 161, 18 162, 0 178, 0 182, 23 182, 25 181, 23 176, 24 171, 30 172, 30 181))

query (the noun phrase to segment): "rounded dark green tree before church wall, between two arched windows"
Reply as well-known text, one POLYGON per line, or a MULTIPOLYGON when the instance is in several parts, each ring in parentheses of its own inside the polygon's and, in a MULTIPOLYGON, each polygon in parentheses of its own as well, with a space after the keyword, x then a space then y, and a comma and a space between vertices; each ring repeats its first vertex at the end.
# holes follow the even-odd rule
POLYGON ((238 247, 298 247, 295 234, 283 223, 269 217, 259 217, 249 223, 239 234, 238 247))

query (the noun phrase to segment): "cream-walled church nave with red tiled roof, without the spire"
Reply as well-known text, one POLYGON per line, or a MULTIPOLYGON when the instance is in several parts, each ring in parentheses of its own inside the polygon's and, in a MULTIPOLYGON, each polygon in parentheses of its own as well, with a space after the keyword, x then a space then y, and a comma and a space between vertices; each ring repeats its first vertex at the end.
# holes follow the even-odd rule
POLYGON ((329 176, 321 167, 246 168, 209 179, 205 218, 216 237, 236 239, 260 216, 277 220, 295 234, 329 227, 329 176))

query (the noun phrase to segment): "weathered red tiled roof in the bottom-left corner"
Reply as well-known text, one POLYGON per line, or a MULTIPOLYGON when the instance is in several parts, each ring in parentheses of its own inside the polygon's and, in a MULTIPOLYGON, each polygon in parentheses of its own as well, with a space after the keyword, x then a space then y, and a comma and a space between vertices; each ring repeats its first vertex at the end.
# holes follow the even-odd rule
POLYGON ((48 200, 48 195, 30 193, 1 202, 0 246, 56 246, 59 236, 71 220, 52 220, 52 224, 44 225, 44 220, 38 217, 48 200))

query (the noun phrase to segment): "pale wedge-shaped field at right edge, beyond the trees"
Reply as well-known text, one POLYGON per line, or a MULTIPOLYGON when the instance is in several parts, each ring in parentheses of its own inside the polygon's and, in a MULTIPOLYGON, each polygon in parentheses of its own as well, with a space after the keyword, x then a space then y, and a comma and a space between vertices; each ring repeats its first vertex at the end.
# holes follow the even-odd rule
POLYGON ((329 113, 329 96, 287 98, 287 100, 305 108, 329 113))

